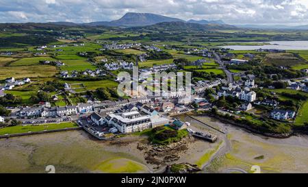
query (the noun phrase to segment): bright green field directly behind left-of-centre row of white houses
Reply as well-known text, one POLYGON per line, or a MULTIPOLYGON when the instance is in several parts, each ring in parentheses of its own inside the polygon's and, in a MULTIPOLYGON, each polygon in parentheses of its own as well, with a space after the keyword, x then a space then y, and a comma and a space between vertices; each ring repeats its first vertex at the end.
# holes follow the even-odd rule
POLYGON ((97 67, 86 60, 62 60, 65 66, 61 66, 62 71, 85 71, 87 69, 95 70, 97 67))

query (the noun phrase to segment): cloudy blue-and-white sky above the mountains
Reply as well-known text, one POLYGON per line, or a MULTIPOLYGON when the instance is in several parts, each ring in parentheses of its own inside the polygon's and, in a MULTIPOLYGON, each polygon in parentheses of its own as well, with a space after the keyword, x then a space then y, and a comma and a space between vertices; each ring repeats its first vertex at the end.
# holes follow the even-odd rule
POLYGON ((127 12, 233 25, 307 25, 308 0, 1 0, 0 23, 111 21, 127 12))

